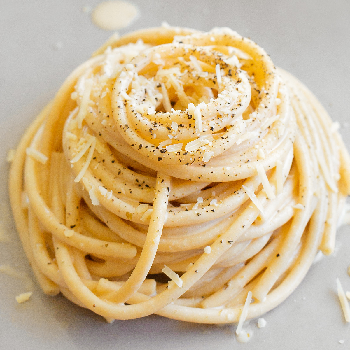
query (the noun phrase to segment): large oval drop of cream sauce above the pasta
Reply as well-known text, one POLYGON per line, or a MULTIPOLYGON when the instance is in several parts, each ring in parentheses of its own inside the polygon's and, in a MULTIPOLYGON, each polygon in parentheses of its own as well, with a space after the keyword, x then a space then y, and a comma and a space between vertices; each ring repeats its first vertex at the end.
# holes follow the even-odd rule
POLYGON ((104 1, 92 11, 92 22, 104 30, 117 30, 131 24, 139 15, 139 9, 127 1, 104 1))

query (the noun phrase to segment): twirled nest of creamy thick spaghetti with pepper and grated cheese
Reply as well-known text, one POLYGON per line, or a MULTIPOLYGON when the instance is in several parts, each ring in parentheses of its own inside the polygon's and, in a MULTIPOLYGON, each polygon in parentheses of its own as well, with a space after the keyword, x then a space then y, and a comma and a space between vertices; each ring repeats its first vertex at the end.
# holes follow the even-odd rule
POLYGON ((109 321, 236 322, 248 290, 248 318, 265 313, 333 251, 349 192, 323 107, 228 28, 108 41, 28 128, 9 182, 43 291, 109 321))

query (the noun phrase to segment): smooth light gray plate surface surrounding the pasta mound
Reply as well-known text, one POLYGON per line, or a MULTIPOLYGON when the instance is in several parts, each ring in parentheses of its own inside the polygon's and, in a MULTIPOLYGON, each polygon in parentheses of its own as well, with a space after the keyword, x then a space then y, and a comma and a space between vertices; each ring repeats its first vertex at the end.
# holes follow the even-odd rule
MULTIPOLYGON (((301 78, 334 120, 350 121, 350 1, 133 2, 140 6, 141 17, 121 34, 164 20, 202 30, 229 26, 257 41, 276 65, 301 78)), ((18 263, 18 269, 30 275, 9 214, 4 159, 69 72, 109 37, 82 12, 83 5, 96 3, 0 0, 0 219, 12 237, 11 243, 0 243, 0 264, 18 263), (63 48, 54 51, 57 41, 63 48)), ((341 130, 348 147, 349 130, 341 130)), ((264 329, 251 322, 254 336, 248 344, 236 342, 234 327, 158 316, 109 325, 62 296, 43 295, 37 285, 30 302, 19 305, 14 296, 24 291, 23 283, 0 274, 0 349, 349 349, 349 325, 335 293, 336 276, 350 290, 349 233, 349 226, 338 231, 342 244, 337 256, 313 265, 295 292, 264 316, 264 329)))

